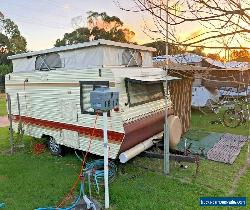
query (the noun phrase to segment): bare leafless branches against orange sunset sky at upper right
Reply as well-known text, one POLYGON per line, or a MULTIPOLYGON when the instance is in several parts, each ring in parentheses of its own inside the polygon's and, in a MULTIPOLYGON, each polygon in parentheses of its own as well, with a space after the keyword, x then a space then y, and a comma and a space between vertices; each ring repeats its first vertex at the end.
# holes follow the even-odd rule
POLYGON ((210 46, 209 42, 213 41, 226 47, 221 38, 230 40, 228 46, 232 42, 250 41, 249 0, 134 0, 134 3, 137 9, 124 8, 119 2, 117 5, 126 11, 151 14, 155 26, 148 27, 149 33, 165 37, 168 25, 169 41, 175 44, 210 46), (188 28, 191 24, 199 24, 203 31, 180 40, 177 30, 188 28))

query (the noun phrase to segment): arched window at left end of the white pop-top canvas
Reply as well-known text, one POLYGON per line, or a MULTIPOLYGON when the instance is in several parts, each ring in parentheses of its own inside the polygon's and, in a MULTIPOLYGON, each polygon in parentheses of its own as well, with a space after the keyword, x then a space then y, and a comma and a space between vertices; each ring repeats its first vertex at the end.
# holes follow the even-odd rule
POLYGON ((62 61, 58 53, 38 55, 36 57, 36 70, 49 71, 56 68, 62 68, 62 61))

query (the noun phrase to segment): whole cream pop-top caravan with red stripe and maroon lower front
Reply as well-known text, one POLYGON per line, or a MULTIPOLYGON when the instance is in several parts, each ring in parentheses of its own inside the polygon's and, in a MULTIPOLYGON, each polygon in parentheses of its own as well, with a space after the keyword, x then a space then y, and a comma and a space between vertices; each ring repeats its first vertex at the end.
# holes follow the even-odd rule
POLYGON ((119 111, 108 113, 109 157, 117 158, 163 130, 166 75, 153 68, 154 50, 96 40, 10 56, 13 73, 5 80, 14 129, 21 121, 26 135, 47 137, 55 155, 62 145, 87 151, 93 134, 90 153, 102 156, 102 116, 94 126, 97 113, 90 106, 90 91, 110 87, 120 97, 119 111))

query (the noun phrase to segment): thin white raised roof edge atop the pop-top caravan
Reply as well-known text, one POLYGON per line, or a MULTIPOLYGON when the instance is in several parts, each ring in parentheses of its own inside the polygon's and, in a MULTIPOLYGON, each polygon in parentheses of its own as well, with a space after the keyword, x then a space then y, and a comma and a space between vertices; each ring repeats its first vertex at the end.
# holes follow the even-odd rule
POLYGON ((73 44, 73 45, 54 47, 54 48, 51 48, 51 49, 40 50, 40 51, 36 51, 36 52, 28 52, 28 53, 12 55, 12 56, 9 56, 8 59, 18 59, 18 58, 30 57, 30 56, 47 54, 47 53, 52 53, 52 52, 62 52, 62 51, 68 51, 68 50, 75 50, 75 49, 93 47, 93 46, 98 46, 98 45, 122 47, 122 48, 129 48, 129 49, 150 51, 150 52, 155 52, 156 51, 156 49, 152 48, 152 47, 144 47, 144 46, 141 46, 141 45, 114 42, 114 41, 105 40, 105 39, 98 39, 98 40, 90 41, 90 42, 83 42, 83 43, 78 43, 78 44, 73 44))

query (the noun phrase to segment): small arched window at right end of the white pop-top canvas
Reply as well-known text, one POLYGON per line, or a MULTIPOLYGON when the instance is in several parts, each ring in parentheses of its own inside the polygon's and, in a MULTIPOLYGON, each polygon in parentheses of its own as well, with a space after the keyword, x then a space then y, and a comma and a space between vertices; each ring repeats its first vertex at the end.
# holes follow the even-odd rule
POLYGON ((142 55, 141 52, 125 49, 122 53, 122 65, 125 66, 141 66, 142 65, 142 55))

